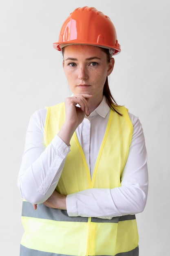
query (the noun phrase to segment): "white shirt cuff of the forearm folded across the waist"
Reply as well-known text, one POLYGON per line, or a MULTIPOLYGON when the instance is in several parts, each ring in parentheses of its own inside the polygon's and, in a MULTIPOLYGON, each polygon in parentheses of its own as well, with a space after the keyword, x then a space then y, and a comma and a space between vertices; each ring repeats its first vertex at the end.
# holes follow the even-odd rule
POLYGON ((66 208, 68 216, 76 217, 79 216, 77 212, 76 193, 69 194, 66 196, 66 208))

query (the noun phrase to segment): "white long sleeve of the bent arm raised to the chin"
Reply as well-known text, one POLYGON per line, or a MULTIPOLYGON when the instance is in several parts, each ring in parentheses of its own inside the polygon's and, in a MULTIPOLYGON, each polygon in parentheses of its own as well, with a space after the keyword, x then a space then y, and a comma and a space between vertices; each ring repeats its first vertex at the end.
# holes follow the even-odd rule
POLYGON ((46 201, 57 186, 70 148, 57 135, 44 145, 46 109, 36 111, 29 121, 18 187, 22 197, 34 204, 46 201))

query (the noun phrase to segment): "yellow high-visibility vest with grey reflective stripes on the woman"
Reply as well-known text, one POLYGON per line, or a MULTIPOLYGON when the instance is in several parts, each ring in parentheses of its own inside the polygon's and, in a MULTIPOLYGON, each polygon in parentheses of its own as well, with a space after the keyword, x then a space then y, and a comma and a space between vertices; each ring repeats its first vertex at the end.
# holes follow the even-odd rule
MULTIPOLYGON (((113 189, 121 185, 133 127, 127 109, 119 107, 118 110, 123 116, 110 110, 92 179, 84 152, 74 133, 70 142, 71 152, 66 157, 56 188, 61 194, 91 188, 113 189)), ((47 108, 44 128, 46 146, 57 135, 64 120, 64 103, 47 108)), ((23 255, 138 256, 135 215, 111 220, 69 217, 66 211, 51 209, 44 204, 39 204, 35 211, 29 202, 23 202, 22 223, 25 229, 21 242, 23 255)))

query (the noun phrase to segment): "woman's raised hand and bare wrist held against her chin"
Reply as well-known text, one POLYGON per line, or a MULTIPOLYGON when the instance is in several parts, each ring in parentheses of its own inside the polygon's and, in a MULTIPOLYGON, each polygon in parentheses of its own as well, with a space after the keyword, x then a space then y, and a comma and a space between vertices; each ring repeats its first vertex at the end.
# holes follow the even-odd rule
POLYGON ((84 116, 90 114, 88 100, 91 94, 77 94, 65 99, 66 119, 58 136, 69 146, 71 137, 77 126, 82 123, 84 116), (80 107, 76 106, 79 104, 80 107))

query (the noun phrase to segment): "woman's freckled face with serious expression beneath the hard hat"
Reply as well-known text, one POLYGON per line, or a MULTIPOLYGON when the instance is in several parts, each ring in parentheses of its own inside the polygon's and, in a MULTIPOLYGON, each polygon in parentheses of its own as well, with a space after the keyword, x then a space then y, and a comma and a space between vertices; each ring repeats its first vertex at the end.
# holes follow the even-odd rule
POLYGON ((68 86, 74 95, 91 94, 99 101, 103 88, 114 65, 101 48, 92 45, 69 45, 64 48, 63 68, 68 86))

